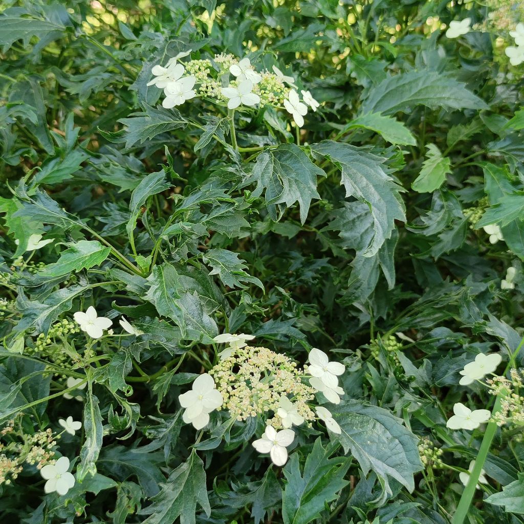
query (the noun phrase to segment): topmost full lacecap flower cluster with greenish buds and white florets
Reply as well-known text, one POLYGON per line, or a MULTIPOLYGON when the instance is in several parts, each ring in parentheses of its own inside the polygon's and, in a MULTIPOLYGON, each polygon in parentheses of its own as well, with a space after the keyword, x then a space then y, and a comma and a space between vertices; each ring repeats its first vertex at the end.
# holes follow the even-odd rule
POLYGON ((162 101, 163 107, 169 109, 198 96, 226 103, 230 110, 239 106, 283 106, 296 125, 302 127, 308 107, 316 111, 320 105, 309 91, 302 90, 300 100, 295 79, 283 74, 275 65, 273 72, 259 72, 249 58, 239 60, 231 54, 217 54, 213 61, 204 59, 178 63, 180 58, 190 53, 191 50, 179 53, 165 67, 157 64, 151 69, 154 78, 147 85, 163 89, 166 96, 162 101), (187 72, 190 74, 185 75, 187 72), (224 86, 222 82, 227 75, 231 75, 230 80, 224 86))

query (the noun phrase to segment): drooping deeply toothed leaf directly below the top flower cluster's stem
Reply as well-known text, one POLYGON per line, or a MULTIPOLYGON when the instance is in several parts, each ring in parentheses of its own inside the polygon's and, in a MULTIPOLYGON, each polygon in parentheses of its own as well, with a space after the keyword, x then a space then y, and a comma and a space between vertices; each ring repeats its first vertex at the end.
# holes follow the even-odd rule
POLYGON ((294 144, 285 144, 272 151, 262 152, 252 173, 243 185, 256 182, 254 196, 265 191, 266 205, 272 220, 277 220, 276 204, 285 203, 289 208, 300 205, 302 224, 308 216, 312 199, 320 199, 316 191, 316 177, 325 177, 322 169, 294 144))

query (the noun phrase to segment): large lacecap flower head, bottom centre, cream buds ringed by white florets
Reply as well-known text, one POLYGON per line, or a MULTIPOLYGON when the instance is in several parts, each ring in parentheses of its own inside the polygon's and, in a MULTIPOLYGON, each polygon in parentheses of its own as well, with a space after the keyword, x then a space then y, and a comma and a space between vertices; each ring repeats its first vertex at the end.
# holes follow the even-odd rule
POLYGON ((225 409, 237 420, 263 416, 266 429, 253 446, 259 453, 269 453, 271 461, 282 466, 288 458, 287 447, 294 440, 293 426, 305 421, 311 425, 316 419, 329 431, 342 432, 328 409, 313 407, 308 402, 314 399, 314 392, 319 391, 330 402, 339 403, 344 390, 339 386, 338 377, 345 367, 339 362, 330 362, 328 355, 313 348, 309 353, 310 365, 302 371, 286 355, 266 347, 247 346, 246 341, 253 339, 253 335, 244 333, 223 333, 215 337, 214 342, 229 345, 219 354, 220 362, 209 374, 200 375, 190 391, 179 395, 184 408, 183 420, 192 423, 195 429, 202 429, 209 422, 209 413, 215 409, 225 409), (311 386, 302 379, 309 379, 311 386), (268 419, 268 412, 274 413, 274 417, 268 419))

